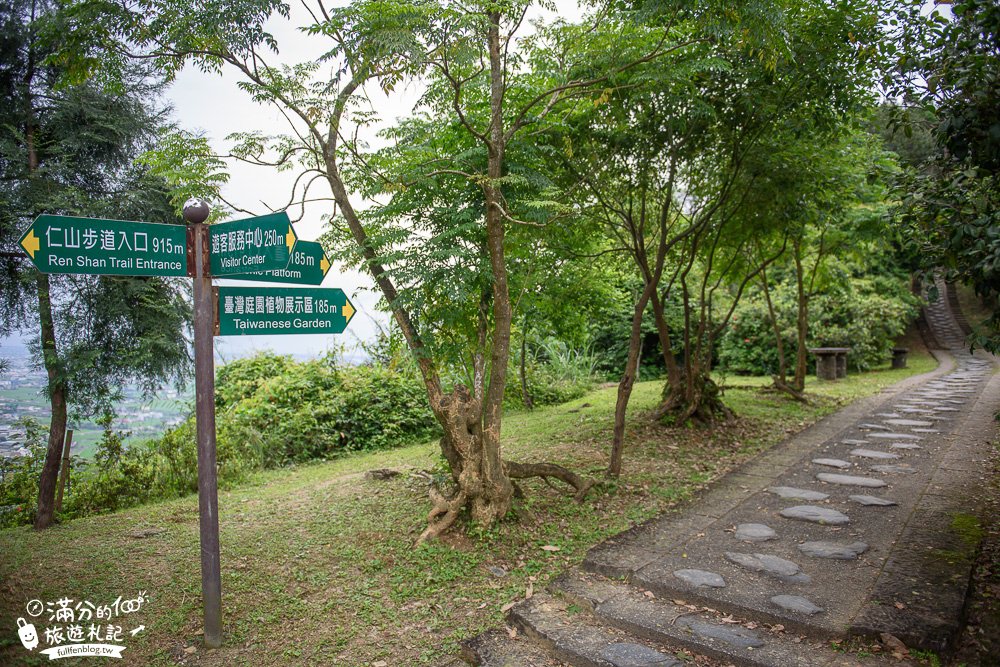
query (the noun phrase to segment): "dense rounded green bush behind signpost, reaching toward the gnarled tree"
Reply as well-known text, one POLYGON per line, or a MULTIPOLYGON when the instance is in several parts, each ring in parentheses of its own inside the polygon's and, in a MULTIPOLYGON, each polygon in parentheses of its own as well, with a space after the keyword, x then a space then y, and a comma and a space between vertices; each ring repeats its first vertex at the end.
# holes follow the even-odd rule
MULTIPOLYGON (((217 374, 216 408, 223 483, 258 468, 420 440, 437 428, 410 366, 341 366, 333 357, 296 362, 265 353, 231 362, 217 374)), ((197 488, 193 418, 150 446, 164 461, 164 488, 197 488)))

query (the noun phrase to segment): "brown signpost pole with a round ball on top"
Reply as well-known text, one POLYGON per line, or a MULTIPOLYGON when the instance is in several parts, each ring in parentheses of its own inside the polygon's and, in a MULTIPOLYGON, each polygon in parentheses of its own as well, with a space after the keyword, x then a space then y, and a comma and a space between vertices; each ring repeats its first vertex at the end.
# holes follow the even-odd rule
POLYGON ((222 645, 222 577, 219 564, 219 493, 215 466, 215 298, 209 270, 208 206, 189 203, 194 258, 195 414, 198 426, 198 514, 201 529, 201 595, 205 645, 222 645))

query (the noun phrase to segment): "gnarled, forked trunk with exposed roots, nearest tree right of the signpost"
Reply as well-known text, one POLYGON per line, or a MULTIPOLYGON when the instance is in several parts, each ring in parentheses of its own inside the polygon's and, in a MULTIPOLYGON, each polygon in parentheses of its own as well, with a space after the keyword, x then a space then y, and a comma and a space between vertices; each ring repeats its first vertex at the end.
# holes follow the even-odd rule
MULTIPOLYGON (((487 176, 482 183, 486 216, 486 249, 492 284, 489 286, 493 305, 493 335, 490 338, 488 373, 480 373, 481 364, 474 365, 474 391, 470 393, 464 386, 456 386, 450 394, 441 388, 438 370, 425 347, 417 326, 406 308, 399 303, 396 287, 388 276, 378 252, 368 239, 368 234, 357 216, 347 188, 337 165, 337 143, 339 126, 344 110, 351 96, 366 80, 364 72, 347 84, 338 96, 334 113, 330 117, 330 127, 325 139, 319 137, 323 146, 323 159, 327 167, 327 182, 351 235, 361 249, 366 266, 382 291, 392 310, 396 322, 406 339, 407 345, 420 368, 431 409, 441 424, 444 435, 441 438, 442 453, 451 467, 457 490, 446 497, 437 489, 430 492, 433 507, 428 514, 428 526, 417 544, 445 532, 458 518, 463 508, 468 508, 471 519, 488 526, 502 518, 510 510, 514 497, 512 477, 555 477, 576 491, 582 499, 593 482, 587 482, 572 472, 553 464, 515 464, 503 461, 500 445, 500 428, 503 418, 503 396, 506 388, 507 364, 510 359, 512 306, 507 280, 504 253, 505 222, 502 215, 502 194, 498 182, 503 175, 504 148, 504 70, 500 35, 500 14, 487 15, 487 46, 490 60, 490 111, 491 120, 488 137, 480 137, 487 148, 487 176), (481 380, 488 375, 485 390, 481 380)), ((485 302, 480 303, 481 311, 485 302)), ((482 321, 482 320, 481 320, 482 321)), ((484 331, 480 332, 485 334, 484 331)), ((480 349, 485 335, 480 335, 480 349)), ((477 354, 481 354, 477 351, 477 354)), ((485 369, 483 369, 485 371, 485 369)))

